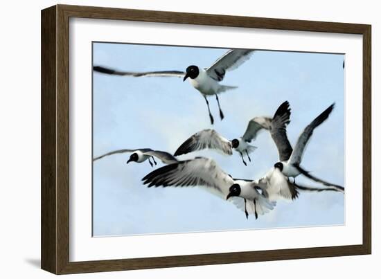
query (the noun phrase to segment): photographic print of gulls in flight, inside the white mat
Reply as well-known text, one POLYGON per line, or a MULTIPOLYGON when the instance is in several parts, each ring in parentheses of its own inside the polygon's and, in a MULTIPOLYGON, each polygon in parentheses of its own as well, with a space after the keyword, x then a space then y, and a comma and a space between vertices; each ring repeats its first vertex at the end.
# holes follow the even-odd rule
POLYGON ((344 54, 92 48, 94 237, 344 225, 344 54))

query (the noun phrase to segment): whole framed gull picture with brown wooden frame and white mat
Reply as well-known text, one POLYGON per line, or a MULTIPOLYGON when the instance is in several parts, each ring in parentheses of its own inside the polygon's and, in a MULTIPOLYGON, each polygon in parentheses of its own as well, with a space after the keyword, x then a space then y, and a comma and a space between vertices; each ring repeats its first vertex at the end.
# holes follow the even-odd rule
POLYGON ((42 10, 42 269, 371 253, 371 26, 42 10))

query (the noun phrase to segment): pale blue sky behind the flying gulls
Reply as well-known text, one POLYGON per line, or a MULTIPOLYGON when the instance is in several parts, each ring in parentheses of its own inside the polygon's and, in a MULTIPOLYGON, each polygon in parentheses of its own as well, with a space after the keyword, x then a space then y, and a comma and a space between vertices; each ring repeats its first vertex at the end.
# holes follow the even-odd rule
MULTIPOLYGON (((126 71, 180 70, 211 65, 227 50, 177 46, 94 43, 94 65, 126 71)), ((213 127, 232 139, 255 116, 272 116, 281 102, 292 108, 287 127, 292 145, 305 125, 332 102, 330 118, 316 129, 302 165, 312 174, 344 186, 344 55, 256 51, 222 84, 239 88, 220 95, 220 121, 210 98, 211 126, 204 98, 180 78, 126 78, 94 73, 94 156, 121 148, 149 147, 175 152, 195 132, 213 127)), ((267 132, 254 143, 251 163, 240 156, 200 151, 180 156, 211 156, 233 177, 257 179, 278 161, 267 132)), ((148 161, 126 161, 130 154, 94 162, 94 236, 180 233, 254 228, 344 224, 344 195, 301 192, 291 203, 278 201, 271 213, 249 216, 200 188, 146 188, 141 178, 153 169, 148 161)), ((158 161, 159 163, 159 161, 158 161)), ((159 166, 161 166, 161 162, 159 166)), ((296 181, 308 182, 298 177, 296 181)), ((310 183, 314 185, 314 183, 310 183)))

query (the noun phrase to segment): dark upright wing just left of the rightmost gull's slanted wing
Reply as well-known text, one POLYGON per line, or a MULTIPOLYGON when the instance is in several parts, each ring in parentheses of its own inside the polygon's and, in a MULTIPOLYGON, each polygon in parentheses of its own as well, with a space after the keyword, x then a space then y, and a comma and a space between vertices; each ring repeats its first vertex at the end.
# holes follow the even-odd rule
POLYGON ((274 114, 270 125, 270 134, 278 149, 279 161, 287 161, 292 154, 292 147, 287 138, 286 125, 290 123, 291 109, 289 102, 283 102, 274 114))

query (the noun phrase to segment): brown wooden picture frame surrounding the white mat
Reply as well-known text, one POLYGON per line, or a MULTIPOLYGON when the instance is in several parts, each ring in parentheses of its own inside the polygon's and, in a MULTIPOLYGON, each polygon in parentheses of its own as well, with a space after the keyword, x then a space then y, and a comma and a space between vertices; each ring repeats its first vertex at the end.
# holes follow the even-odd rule
POLYGON ((184 267, 371 253, 371 26, 57 5, 42 10, 42 269, 55 274, 184 267), (363 242, 305 249, 69 262, 69 18, 199 24, 363 35, 363 242))

